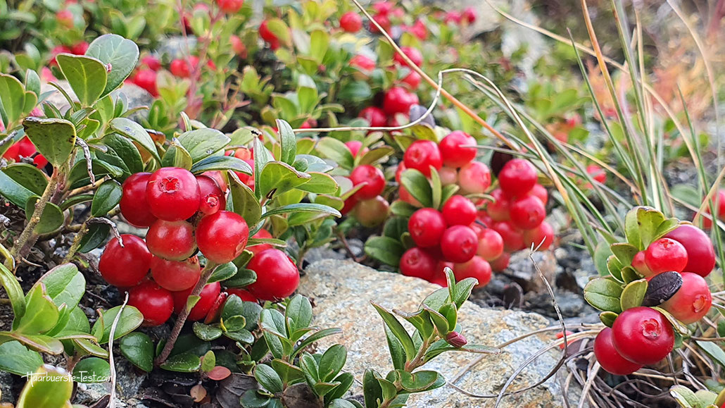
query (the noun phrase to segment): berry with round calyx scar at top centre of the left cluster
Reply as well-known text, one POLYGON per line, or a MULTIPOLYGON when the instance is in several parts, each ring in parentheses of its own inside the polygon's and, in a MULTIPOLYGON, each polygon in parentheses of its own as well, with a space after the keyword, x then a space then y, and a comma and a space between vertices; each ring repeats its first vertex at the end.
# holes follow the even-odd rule
POLYGON ((165 221, 180 221, 199 211, 199 183, 191 171, 162 167, 149 176, 146 202, 151 213, 165 221))

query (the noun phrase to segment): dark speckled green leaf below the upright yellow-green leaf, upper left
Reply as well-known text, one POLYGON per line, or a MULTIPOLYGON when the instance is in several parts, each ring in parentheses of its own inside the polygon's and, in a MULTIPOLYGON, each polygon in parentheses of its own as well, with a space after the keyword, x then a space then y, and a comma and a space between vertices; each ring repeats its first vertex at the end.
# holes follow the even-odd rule
POLYGON ((55 167, 70 158, 75 147, 75 126, 65 119, 44 119, 31 116, 22 121, 25 134, 55 167))

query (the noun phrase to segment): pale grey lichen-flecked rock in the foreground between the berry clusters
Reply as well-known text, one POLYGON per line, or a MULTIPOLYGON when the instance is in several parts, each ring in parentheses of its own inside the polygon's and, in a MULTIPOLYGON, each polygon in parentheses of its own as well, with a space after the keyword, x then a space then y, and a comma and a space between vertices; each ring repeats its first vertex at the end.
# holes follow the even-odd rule
MULTIPOLYGON (((348 349, 345 370, 361 381, 366 368, 382 373, 392 369, 383 323, 370 300, 386 308, 413 311, 418 303, 438 286, 399 274, 377 272, 352 261, 326 260, 310 265, 302 278, 299 292, 315 303, 313 323, 320 327, 340 327, 341 335, 318 343, 320 349, 335 343, 348 349)), ((460 310, 463 335, 471 343, 494 346, 532 330, 547 326, 547 319, 521 311, 484 309, 466 302, 460 310)), ((478 394, 496 394, 513 371, 546 344, 545 338, 533 336, 505 348, 500 355, 484 356, 457 382, 461 388, 478 394)), ((458 373, 479 355, 449 353, 424 366, 437 370, 447 379, 458 373)), ((556 354, 544 354, 518 376, 510 390, 532 385, 543 378, 557 362, 556 354)), ((362 393, 355 382, 353 394, 362 393)), ((410 407, 492 407, 494 399, 474 399, 444 386, 430 393, 411 396, 410 407)), ((510 396, 501 407, 561 407, 560 387, 554 380, 525 393, 510 396)))

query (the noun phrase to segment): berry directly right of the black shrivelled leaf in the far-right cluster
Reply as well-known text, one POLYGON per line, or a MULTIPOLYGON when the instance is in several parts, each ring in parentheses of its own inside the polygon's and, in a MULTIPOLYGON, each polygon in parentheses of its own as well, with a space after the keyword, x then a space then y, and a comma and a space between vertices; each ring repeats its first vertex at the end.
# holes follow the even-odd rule
POLYGON ((662 303, 660 307, 670 312, 675 319, 690 325, 699 322, 708 314, 713 304, 713 295, 705 278, 692 272, 682 272, 682 287, 662 303))

